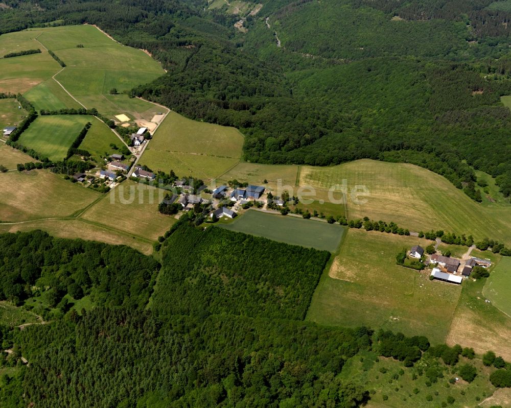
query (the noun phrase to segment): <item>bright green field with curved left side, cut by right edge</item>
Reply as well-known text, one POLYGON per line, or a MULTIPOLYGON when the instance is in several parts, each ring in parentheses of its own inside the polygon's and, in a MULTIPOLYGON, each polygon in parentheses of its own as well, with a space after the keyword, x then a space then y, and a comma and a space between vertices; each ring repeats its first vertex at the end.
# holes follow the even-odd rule
POLYGON ((502 257, 491 272, 483 290, 484 296, 511 317, 511 259, 502 257))

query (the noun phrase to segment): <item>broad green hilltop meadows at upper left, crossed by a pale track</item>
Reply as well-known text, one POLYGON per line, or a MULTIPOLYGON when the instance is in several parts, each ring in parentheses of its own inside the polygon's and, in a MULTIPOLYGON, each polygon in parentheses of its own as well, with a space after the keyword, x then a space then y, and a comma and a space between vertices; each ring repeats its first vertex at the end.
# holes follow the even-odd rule
POLYGON ((127 95, 109 95, 112 88, 119 92, 129 90, 158 78, 165 71, 143 51, 121 45, 95 27, 36 28, 0 38, 0 50, 16 51, 24 46, 39 48, 42 53, 1 59, 0 92, 29 91, 26 96, 36 109, 80 106, 52 81, 51 77, 57 73, 55 78, 82 104, 97 108, 112 119, 125 113, 149 121, 161 109, 144 101, 130 100, 127 95), (79 44, 83 47, 77 47, 79 44), (66 67, 62 69, 44 47, 53 51, 66 67))

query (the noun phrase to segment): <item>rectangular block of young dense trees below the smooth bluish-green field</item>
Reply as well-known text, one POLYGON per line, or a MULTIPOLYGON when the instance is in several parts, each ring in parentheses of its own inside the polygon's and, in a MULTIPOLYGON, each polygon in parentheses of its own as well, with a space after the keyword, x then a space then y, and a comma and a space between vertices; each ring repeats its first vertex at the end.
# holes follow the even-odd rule
POLYGON ((181 226, 163 244, 160 314, 203 312, 302 320, 327 251, 210 227, 181 226))

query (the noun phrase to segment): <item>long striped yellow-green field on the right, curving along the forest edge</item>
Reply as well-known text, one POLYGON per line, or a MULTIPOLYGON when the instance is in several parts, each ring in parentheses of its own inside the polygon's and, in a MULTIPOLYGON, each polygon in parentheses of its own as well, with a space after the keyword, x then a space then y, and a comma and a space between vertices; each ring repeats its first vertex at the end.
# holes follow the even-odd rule
POLYGON ((410 230, 445 229, 492 237, 511 244, 511 205, 481 205, 455 188, 444 177, 412 164, 357 160, 332 167, 301 167, 300 185, 328 189, 346 180, 350 219, 369 217, 394 221, 410 230), (369 196, 351 198, 356 185, 366 186, 369 196))

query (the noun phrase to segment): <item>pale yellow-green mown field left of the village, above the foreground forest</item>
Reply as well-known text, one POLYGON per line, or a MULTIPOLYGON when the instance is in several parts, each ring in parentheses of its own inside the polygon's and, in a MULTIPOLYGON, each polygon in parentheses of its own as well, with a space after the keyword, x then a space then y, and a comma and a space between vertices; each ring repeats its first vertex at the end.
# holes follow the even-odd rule
POLYGON ((177 220, 158 212, 166 190, 127 180, 85 211, 81 218, 127 235, 155 241, 177 220))

